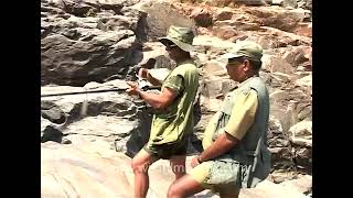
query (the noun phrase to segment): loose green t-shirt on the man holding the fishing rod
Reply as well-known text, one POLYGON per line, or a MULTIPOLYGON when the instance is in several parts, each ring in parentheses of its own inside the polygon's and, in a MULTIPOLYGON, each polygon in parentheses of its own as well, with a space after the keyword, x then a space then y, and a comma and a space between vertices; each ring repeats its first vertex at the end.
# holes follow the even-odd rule
POLYGON ((193 130, 193 102, 199 87, 199 73, 193 61, 179 64, 162 84, 178 92, 175 100, 153 116, 148 145, 178 143, 193 130))

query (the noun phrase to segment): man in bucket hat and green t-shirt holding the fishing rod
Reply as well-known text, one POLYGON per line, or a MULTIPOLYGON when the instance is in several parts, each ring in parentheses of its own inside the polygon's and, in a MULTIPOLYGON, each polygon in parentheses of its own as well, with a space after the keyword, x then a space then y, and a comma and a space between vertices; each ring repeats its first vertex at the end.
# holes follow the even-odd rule
POLYGON ((163 82, 141 68, 139 75, 152 85, 162 84, 160 94, 142 91, 129 82, 130 95, 139 95, 157 112, 153 116, 150 139, 132 158, 135 174, 135 197, 146 197, 149 188, 148 168, 160 158, 170 160, 175 179, 185 174, 185 154, 189 135, 193 131, 193 102, 199 87, 199 73, 190 57, 194 34, 188 28, 170 26, 167 37, 160 40, 165 45, 176 67, 163 82))

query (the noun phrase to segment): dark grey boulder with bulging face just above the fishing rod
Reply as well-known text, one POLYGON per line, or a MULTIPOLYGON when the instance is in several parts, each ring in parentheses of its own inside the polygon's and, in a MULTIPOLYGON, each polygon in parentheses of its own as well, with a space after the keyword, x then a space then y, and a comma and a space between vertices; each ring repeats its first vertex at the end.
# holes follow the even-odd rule
POLYGON ((89 42, 58 34, 47 36, 42 40, 42 80, 82 86, 88 81, 103 82, 115 74, 124 76, 135 40, 132 31, 101 33, 89 42))

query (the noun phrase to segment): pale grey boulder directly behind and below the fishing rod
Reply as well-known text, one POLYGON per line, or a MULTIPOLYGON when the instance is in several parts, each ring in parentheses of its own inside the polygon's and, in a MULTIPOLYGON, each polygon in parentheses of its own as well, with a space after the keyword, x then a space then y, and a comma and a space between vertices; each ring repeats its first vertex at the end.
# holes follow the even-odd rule
MULTIPOLYGON (((65 113, 65 123, 51 124, 51 128, 63 133, 71 142, 74 142, 71 140, 72 135, 89 136, 90 140, 107 142, 111 150, 132 156, 148 141, 152 113, 149 111, 152 109, 146 107, 141 100, 127 96, 125 81, 117 79, 105 84, 89 82, 84 88, 47 86, 42 87, 42 94, 109 88, 121 88, 122 91, 46 97, 42 103, 54 103, 65 113)), ((42 124, 47 124, 46 119, 42 121, 42 124)))

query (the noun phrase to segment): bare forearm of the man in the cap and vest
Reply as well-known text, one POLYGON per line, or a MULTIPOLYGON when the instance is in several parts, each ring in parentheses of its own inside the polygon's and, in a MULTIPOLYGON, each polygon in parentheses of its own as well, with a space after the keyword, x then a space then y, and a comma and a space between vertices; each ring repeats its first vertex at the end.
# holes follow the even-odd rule
POLYGON ((238 140, 234 136, 229 135, 228 133, 224 133, 220 135, 216 141, 214 141, 205 151, 203 151, 200 156, 199 161, 210 161, 221 156, 222 154, 229 151, 237 144, 238 140))

